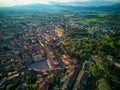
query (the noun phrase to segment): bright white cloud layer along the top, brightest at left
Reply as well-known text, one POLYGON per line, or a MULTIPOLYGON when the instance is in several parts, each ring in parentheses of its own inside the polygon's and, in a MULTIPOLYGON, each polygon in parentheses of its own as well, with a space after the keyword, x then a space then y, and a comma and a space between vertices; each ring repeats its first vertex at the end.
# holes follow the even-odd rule
POLYGON ((24 4, 32 4, 32 3, 50 4, 51 2, 71 3, 71 2, 87 2, 87 1, 120 2, 119 0, 0 0, 0 6, 24 5, 24 4))

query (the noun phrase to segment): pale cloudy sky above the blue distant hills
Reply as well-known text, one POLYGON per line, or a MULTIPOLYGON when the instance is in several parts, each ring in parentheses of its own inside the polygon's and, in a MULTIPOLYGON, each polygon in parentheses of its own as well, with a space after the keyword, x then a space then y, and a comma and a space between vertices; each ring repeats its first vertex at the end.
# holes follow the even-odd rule
POLYGON ((111 3, 120 3, 120 0, 0 0, 0 7, 9 7, 14 5, 26 5, 26 4, 52 4, 52 3, 58 3, 58 4, 69 4, 69 5, 78 5, 76 3, 79 3, 79 5, 83 5, 83 3, 88 4, 111 4, 111 3), (80 4, 81 3, 81 4, 80 4))

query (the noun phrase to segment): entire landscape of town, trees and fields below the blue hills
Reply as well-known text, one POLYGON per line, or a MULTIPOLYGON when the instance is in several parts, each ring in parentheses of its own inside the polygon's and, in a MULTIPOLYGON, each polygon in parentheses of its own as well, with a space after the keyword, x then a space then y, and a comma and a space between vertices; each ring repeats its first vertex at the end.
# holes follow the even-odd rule
POLYGON ((119 11, 0 12, 0 90, 120 89, 119 11))

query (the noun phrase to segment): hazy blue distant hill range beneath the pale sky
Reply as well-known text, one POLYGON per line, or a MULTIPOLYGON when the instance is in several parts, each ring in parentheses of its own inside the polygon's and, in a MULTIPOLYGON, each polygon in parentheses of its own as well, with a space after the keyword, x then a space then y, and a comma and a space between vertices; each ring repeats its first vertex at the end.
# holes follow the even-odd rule
POLYGON ((107 6, 72 6, 72 5, 59 5, 59 4, 29 4, 29 5, 16 5, 12 7, 1 7, 7 9, 56 9, 56 10, 120 10, 120 3, 107 6))

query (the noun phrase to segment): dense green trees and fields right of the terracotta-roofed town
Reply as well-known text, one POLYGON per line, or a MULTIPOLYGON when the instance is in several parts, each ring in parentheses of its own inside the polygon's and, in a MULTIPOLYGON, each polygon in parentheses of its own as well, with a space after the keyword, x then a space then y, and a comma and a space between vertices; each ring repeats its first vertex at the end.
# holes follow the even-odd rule
MULTIPOLYGON (((107 14, 95 16, 97 19, 92 19, 90 15, 86 17, 89 18, 88 20, 94 20, 95 23, 98 23, 103 17, 105 23, 110 22, 110 20, 119 21, 115 19, 114 15, 109 16, 107 14)), ((93 24, 91 21, 90 23, 93 24)), ((95 65, 89 67, 92 74, 89 82, 94 82, 94 84, 88 82, 89 89, 120 89, 120 27, 112 24, 108 31, 87 30, 86 27, 87 25, 83 28, 68 27, 68 31, 62 38, 64 42, 60 46, 64 47, 71 57, 76 57, 80 63, 88 59, 96 62, 95 65)))

